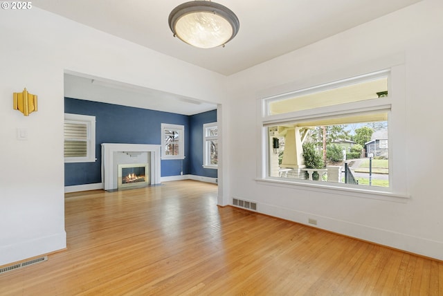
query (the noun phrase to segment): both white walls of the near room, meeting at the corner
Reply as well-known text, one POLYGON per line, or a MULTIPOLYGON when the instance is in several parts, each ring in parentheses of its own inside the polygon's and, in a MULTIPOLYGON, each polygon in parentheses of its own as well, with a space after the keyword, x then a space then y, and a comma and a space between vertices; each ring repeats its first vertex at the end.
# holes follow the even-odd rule
POLYGON ((219 204, 231 203, 236 196, 256 201, 266 214, 300 223, 313 217, 320 228, 443 259, 443 198, 438 184, 443 144, 438 137, 443 125, 442 11, 440 0, 424 0, 232 75, 230 102, 224 102, 226 79, 216 73, 38 8, 1 11, 0 265, 66 246, 62 156, 66 70, 223 103, 219 204), (260 145, 256 132, 260 95, 363 71, 398 56, 406 67, 409 199, 331 195, 254 180, 260 151, 244 151, 244 143, 260 145), (12 93, 25 86, 39 95, 39 110, 29 117, 12 109, 12 93), (28 130, 27 141, 16 140, 17 128, 28 130))

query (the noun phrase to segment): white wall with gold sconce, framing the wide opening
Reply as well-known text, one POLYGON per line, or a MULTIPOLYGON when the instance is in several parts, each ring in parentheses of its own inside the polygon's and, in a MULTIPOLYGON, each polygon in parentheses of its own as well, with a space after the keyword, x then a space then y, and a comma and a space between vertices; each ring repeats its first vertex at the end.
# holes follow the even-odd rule
POLYGON ((39 8, 0 12, 0 266, 66 247, 64 71, 221 104, 226 77, 39 8), (12 109, 12 93, 38 95, 38 111, 12 109), (17 128, 28 140, 17 140, 17 128))

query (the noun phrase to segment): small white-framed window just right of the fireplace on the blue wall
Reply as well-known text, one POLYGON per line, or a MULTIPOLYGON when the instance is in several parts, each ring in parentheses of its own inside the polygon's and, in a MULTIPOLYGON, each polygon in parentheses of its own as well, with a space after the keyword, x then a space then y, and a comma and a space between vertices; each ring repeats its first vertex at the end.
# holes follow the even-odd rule
POLYGON ((179 124, 161 124, 162 159, 185 158, 185 127, 179 124))

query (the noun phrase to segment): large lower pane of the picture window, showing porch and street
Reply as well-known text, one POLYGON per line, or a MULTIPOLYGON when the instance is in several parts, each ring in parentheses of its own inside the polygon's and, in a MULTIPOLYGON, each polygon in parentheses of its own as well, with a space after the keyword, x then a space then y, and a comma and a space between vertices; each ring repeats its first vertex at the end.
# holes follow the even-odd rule
POLYGON ((388 133, 388 111, 279 124, 268 131, 269 176, 389 187, 383 145, 388 138, 373 137, 388 133))

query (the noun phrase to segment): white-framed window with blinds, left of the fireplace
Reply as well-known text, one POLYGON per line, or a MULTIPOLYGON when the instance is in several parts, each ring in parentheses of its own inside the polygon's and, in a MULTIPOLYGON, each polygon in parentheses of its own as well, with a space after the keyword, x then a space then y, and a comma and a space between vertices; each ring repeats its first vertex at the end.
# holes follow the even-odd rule
POLYGON ((83 163, 96 161, 96 117, 64 115, 64 161, 83 163))

